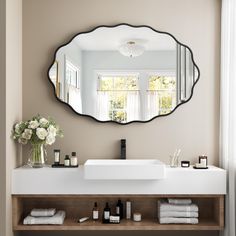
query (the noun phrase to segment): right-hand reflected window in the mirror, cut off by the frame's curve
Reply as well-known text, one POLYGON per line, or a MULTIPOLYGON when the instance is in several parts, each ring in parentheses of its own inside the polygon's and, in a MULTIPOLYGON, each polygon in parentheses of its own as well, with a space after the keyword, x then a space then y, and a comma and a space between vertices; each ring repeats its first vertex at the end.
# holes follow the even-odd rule
POLYGON ((176 106, 176 77, 151 75, 148 79, 148 118, 170 113, 176 106))

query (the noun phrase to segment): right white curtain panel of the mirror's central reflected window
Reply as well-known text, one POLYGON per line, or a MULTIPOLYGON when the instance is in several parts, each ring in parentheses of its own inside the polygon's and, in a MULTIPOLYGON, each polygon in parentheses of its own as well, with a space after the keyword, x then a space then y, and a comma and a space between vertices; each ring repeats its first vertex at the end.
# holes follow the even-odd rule
POLYGON ((140 120, 140 96, 139 91, 127 93, 127 122, 140 120))

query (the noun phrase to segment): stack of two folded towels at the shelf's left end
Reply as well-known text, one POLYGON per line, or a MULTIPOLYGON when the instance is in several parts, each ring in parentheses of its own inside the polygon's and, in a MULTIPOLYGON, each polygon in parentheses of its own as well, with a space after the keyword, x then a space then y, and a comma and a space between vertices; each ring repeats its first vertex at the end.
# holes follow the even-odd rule
POLYGON ((50 209, 32 209, 24 219, 24 225, 62 225, 66 217, 65 211, 50 209))

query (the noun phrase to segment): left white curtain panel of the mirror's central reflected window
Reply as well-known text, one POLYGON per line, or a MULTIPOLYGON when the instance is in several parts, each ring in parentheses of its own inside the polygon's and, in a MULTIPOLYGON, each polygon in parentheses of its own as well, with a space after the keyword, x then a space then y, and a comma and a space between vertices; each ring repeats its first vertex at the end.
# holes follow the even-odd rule
POLYGON ((109 120, 109 97, 108 92, 97 92, 97 116, 98 120, 109 120))

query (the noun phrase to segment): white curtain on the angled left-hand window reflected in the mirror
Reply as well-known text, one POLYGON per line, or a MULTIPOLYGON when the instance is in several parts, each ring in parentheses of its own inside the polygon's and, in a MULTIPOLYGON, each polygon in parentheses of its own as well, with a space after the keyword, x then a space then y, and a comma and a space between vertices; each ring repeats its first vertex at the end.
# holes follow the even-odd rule
POLYGON ((72 85, 68 85, 68 99, 69 99, 69 104, 73 107, 73 109, 78 113, 82 113, 82 101, 81 101, 80 89, 72 85))

